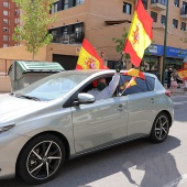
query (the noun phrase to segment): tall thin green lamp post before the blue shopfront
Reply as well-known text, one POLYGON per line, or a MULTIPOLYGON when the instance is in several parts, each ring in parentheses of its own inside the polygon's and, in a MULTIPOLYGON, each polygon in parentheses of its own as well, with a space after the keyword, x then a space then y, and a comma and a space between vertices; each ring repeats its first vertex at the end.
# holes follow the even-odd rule
POLYGON ((162 70, 162 84, 163 85, 164 85, 165 62, 166 62, 167 20, 168 20, 168 0, 166 0, 166 21, 165 21, 164 54, 163 54, 163 70, 162 70))

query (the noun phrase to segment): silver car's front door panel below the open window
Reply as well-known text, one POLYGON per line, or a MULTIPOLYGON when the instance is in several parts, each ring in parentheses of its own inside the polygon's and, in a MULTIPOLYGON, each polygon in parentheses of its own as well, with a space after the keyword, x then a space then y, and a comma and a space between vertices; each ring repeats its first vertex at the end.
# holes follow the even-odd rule
POLYGON ((127 138, 127 98, 113 97, 72 107, 77 153, 99 148, 127 138))

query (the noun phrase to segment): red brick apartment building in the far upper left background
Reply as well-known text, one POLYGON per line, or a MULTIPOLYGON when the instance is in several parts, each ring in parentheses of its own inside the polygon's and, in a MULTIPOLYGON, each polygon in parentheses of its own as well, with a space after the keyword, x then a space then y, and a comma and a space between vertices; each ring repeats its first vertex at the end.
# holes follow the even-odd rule
POLYGON ((19 7, 12 0, 0 0, 0 48, 16 45, 12 34, 19 23, 19 7))

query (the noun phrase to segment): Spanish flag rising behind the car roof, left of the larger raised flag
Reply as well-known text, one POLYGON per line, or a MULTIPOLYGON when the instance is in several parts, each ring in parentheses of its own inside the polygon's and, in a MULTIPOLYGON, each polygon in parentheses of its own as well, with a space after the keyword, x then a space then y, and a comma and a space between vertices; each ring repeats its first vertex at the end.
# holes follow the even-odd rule
POLYGON ((76 69, 103 69, 103 62, 91 44, 84 38, 76 69))

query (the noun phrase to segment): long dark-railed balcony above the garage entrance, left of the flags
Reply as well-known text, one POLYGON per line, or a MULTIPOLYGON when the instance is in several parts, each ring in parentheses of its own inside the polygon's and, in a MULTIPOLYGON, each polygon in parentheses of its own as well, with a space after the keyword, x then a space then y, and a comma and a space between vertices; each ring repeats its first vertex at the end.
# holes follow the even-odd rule
POLYGON ((53 35, 52 43, 61 43, 61 44, 81 44, 85 37, 84 32, 76 33, 64 33, 53 35))

